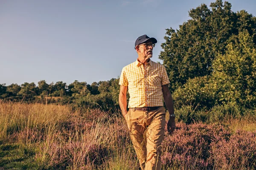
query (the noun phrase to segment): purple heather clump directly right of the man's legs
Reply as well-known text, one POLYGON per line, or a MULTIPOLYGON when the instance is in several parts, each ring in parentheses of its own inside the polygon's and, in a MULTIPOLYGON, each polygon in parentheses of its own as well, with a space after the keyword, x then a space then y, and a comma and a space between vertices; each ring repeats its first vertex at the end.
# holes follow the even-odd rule
POLYGON ((230 132, 223 126, 177 124, 177 130, 172 135, 166 133, 163 141, 163 164, 166 167, 204 169, 209 166, 210 144, 229 136, 230 132))

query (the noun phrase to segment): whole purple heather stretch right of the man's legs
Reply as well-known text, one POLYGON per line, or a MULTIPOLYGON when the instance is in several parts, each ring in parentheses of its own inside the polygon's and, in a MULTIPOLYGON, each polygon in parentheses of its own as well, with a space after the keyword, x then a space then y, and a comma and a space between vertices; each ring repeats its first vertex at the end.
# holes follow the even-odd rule
POLYGON ((177 124, 163 141, 164 169, 256 168, 256 132, 238 130, 231 134, 221 125, 177 124))

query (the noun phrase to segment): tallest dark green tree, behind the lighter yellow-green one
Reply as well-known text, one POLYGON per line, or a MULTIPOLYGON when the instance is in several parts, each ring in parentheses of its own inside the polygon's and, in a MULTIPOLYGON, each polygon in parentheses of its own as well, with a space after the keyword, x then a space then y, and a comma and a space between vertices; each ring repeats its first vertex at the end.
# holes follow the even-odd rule
POLYGON ((212 62, 225 54, 230 37, 247 30, 256 43, 256 17, 246 11, 234 13, 231 4, 216 0, 211 9, 202 4, 189 11, 190 20, 179 30, 166 29, 166 42, 159 58, 169 75, 171 90, 183 86, 188 79, 212 73, 212 62))

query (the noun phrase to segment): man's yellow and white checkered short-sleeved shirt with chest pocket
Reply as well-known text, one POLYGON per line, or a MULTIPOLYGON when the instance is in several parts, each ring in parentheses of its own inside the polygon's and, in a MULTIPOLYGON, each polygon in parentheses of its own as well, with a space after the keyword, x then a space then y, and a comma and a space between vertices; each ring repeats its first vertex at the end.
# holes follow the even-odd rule
POLYGON ((163 106, 162 85, 169 84, 166 68, 149 59, 143 64, 138 59, 122 69, 119 85, 128 86, 128 108, 163 106))

